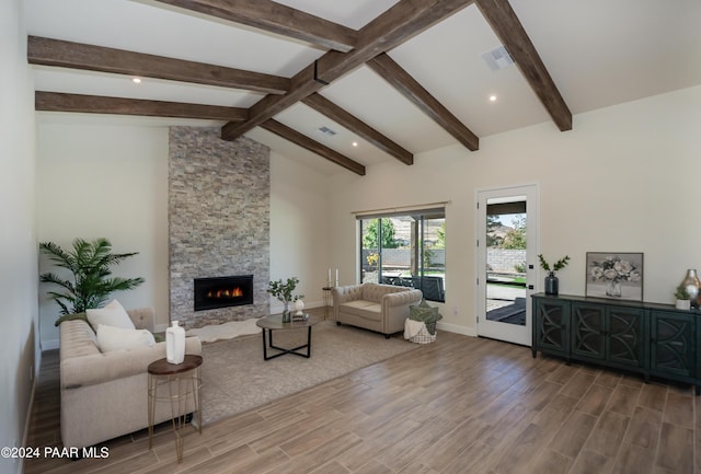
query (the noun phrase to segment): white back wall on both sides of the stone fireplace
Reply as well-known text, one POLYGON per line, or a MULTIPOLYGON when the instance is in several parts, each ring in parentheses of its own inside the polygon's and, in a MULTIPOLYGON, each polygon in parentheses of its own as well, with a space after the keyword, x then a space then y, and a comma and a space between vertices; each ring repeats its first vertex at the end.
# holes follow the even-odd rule
MULTIPOLYGON (((39 114, 38 239, 70 246, 77 236, 105 236, 115 252, 139 252, 115 275, 140 276, 136 290, 114 296, 126 308, 153 305, 169 321, 168 129, 93 123, 39 114)), ((143 124, 141 120, 137 123, 143 124)), ((329 264, 326 184, 319 173, 271 155, 271 278, 300 279, 309 307, 322 301, 329 264)), ((41 270, 54 267, 43 257, 41 270)), ((39 288, 42 347, 58 347, 58 305, 39 288)), ((272 311, 281 311, 277 300, 272 311)))

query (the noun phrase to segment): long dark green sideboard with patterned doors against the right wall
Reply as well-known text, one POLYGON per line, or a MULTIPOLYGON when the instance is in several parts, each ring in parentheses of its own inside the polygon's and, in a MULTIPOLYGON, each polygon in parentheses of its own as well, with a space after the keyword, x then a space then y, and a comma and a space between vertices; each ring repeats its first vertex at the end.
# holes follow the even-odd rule
POLYGON ((688 382, 701 392, 698 311, 600 298, 535 294, 532 354, 688 382))

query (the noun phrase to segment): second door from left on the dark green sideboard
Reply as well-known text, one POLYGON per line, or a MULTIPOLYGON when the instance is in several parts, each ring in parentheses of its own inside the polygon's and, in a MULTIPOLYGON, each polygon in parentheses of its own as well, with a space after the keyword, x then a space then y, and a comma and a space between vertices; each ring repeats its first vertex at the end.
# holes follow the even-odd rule
POLYGON ((605 307, 572 305, 572 352, 604 359, 606 356, 605 307))

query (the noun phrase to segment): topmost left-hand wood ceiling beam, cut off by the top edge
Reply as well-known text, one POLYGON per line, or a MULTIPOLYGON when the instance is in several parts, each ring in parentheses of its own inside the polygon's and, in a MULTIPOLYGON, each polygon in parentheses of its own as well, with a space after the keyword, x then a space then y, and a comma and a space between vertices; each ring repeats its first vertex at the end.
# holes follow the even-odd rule
POLYGON ((357 32, 347 26, 271 0, 157 0, 266 32, 347 53, 357 32))

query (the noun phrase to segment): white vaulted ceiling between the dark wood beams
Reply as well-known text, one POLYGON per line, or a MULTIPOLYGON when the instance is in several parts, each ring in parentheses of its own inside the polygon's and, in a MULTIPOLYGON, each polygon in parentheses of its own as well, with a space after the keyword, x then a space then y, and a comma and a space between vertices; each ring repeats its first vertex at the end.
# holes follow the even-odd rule
MULTIPOLYGON (((357 30, 397 1, 278 2, 357 30)), ((573 115, 701 84, 699 0, 510 0, 510 4, 573 115)), ((31 35, 276 76, 291 77, 325 53, 151 0, 26 0, 24 5, 31 35)), ((499 45, 479 9, 471 5, 389 55, 479 137, 549 122, 516 66, 492 71, 483 61, 482 54, 499 45), (489 101, 492 94, 496 102, 489 101)), ((130 78, 108 73, 41 66, 33 70, 38 91, 237 107, 250 107, 263 96, 156 79, 134 84, 130 78)), ((368 67, 349 72, 320 94, 413 153, 457 143, 368 67)), ((223 125, 64 113, 38 116, 49 123, 223 125)), ((275 118, 366 166, 383 161, 404 166, 306 105, 297 104, 275 118), (322 126, 337 134, 326 137, 318 131, 322 126)), ((261 128, 246 136, 322 173, 348 172, 261 128)))

